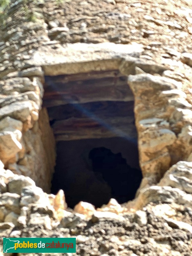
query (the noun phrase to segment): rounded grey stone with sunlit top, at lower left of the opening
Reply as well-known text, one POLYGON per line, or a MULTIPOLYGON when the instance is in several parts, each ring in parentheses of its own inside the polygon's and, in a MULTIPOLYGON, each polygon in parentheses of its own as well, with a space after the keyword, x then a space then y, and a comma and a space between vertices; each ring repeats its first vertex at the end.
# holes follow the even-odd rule
POLYGON ((34 186, 35 182, 29 177, 15 175, 7 184, 8 192, 21 195, 22 189, 26 186, 34 186))

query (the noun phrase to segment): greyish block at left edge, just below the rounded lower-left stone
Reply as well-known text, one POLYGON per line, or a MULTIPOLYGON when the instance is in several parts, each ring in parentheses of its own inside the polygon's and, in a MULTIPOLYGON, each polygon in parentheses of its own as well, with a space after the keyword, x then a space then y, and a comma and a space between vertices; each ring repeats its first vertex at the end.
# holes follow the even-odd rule
POLYGON ((0 196, 0 206, 20 214, 20 196, 15 193, 6 192, 0 196))

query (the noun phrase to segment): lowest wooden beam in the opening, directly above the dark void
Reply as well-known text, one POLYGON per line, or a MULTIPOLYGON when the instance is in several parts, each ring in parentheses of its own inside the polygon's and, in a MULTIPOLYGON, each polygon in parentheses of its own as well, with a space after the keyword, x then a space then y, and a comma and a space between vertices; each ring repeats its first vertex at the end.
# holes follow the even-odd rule
POLYGON ((111 137, 137 138, 134 116, 92 120, 90 118, 69 118, 56 121, 53 126, 56 141, 82 140, 111 137))

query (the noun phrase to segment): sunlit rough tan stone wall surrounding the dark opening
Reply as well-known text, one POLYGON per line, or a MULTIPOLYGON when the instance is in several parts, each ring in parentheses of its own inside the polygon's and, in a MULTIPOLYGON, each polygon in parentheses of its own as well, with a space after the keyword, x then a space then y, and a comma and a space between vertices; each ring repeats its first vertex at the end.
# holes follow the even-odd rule
POLYGON ((35 22, 26 20, 22 1, 12 1, 0 30, 1 237, 76 236, 76 254, 85 256, 189 256, 191 4, 29 5, 41 13, 35 22), (143 180, 132 202, 111 199, 97 210, 80 202, 71 211, 62 191, 47 194, 55 141, 42 108, 44 76, 116 69, 134 94, 143 180))

